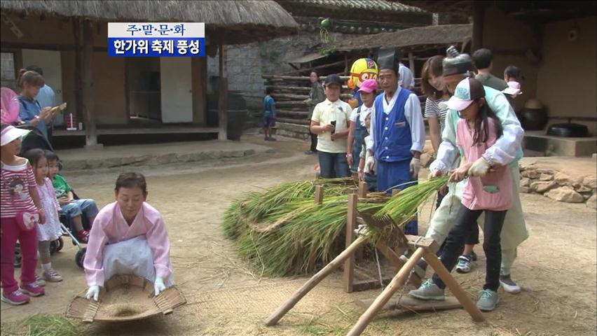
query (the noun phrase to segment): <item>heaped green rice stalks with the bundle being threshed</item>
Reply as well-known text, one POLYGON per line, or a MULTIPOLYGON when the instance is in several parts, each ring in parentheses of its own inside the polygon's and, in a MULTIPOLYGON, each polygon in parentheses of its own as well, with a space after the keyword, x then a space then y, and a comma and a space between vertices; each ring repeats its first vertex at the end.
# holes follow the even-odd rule
MULTIPOLYGON (((416 199, 399 203, 399 212, 416 214, 417 207, 441 187, 437 185, 436 180, 434 186, 421 183, 404 190, 399 195, 416 199), (404 209, 407 206, 414 210, 404 209)), ((240 256, 256 265, 264 276, 307 274, 343 251, 347 196, 356 190, 352 179, 319 179, 249 193, 235 200, 224 214, 224 233, 235 239, 240 256), (317 185, 324 187, 322 204, 314 202, 317 185)), ((392 199, 402 198, 399 195, 392 199)), ((381 214, 388 210, 383 210, 388 199, 384 193, 370 193, 366 199, 359 199, 357 207, 359 211, 381 214)), ((397 211, 390 216, 399 218, 400 225, 406 223, 397 211)))

